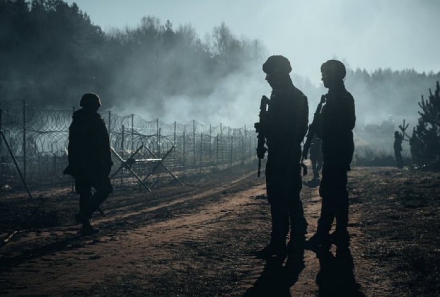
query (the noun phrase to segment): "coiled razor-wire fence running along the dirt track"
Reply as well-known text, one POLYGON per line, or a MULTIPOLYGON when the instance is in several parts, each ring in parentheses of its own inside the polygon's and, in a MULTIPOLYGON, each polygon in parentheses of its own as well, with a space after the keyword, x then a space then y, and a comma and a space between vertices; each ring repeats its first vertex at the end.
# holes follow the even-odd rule
MULTIPOLYGON (((72 184, 73 179, 62 171, 67 166, 68 127, 74 108, 46 110, 25 101, 0 101, 0 109, 0 129, 26 182, 31 187, 72 184)), ((167 168, 176 176, 185 176, 253 162, 256 158, 256 134, 246 127, 203 125, 195 120, 170 124, 111 111, 101 116, 114 149, 115 165, 110 175, 115 185, 139 179, 147 184, 157 183, 164 180, 162 177, 171 178, 167 168), (130 157, 132 162, 128 164, 130 157), (157 159, 163 159, 165 166, 157 159)), ((21 183, 3 139, 0 158, 0 185, 21 183)))

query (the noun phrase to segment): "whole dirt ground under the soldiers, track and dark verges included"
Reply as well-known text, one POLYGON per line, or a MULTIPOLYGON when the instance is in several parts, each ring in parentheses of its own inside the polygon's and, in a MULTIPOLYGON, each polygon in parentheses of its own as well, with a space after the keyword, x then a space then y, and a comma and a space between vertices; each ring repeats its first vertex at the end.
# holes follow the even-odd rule
MULTIPOLYGON (((310 179, 306 176, 306 181, 310 179)), ((0 196, 0 294, 107 296, 438 295, 440 175, 391 167, 350 172, 350 249, 260 259, 269 240, 264 178, 254 164, 197 175, 147 193, 119 187, 77 235, 77 195, 0 196)), ((309 237, 317 188, 302 191, 309 237)))

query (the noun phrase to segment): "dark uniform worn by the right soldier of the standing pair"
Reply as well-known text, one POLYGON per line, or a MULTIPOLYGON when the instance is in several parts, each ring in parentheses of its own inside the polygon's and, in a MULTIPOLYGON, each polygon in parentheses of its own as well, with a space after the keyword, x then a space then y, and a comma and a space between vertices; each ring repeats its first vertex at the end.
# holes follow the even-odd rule
POLYGON ((322 139, 322 197, 318 233, 327 236, 336 218, 336 231, 346 232, 349 220, 349 192, 346 188, 353 158, 353 129, 356 116, 353 96, 343 84, 329 90, 321 111, 317 134, 322 139))

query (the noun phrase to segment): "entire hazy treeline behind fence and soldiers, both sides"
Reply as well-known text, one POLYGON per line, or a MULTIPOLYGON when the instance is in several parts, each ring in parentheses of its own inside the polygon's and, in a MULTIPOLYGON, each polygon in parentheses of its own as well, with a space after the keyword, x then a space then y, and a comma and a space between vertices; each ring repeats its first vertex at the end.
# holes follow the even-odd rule
MULTIPOLYGON (((228 105, 221 116, 230 114, 242 125, 256 120, 259 98, 268 88, 262 43, 237 38, 225 24, 203 41, 190 25, 174 28, 151 16, 136 28, 104 32, 76 4, 0 0, 0 45, 0 101, 26 99, 64 109, 95 91, 106 108, 127 113, 142 108, 161 118, 166 103, 177 111, 192 110, 190 116, 201 121, 228 105), (191 104, 181 104, 182 98, 191 104), (243 109, 250 105, 255 108, 248 114, 243 109)), ((289 55, 285 48, 276 54, 289 55)), ((327 90, 300 75, 292 73, 293 81, 314 110, 327 90)), ((438 80, 440 73, 413 69, 349 69, 346 86, 356 100, 358 127, 388 115, 417 116, 420 91, 438 80)))

